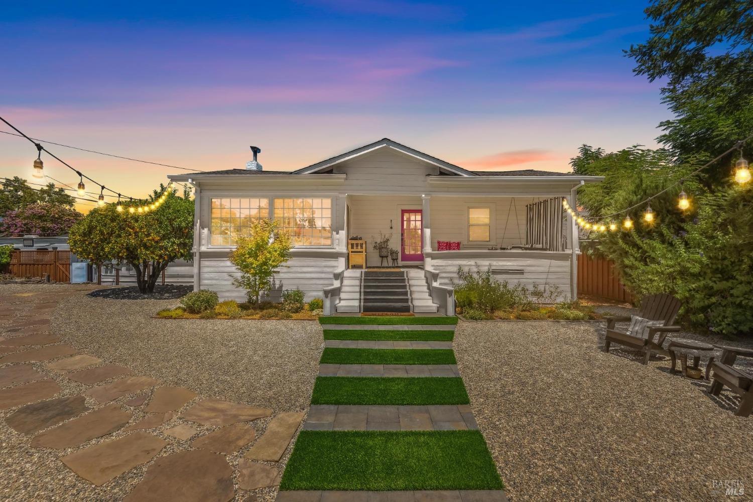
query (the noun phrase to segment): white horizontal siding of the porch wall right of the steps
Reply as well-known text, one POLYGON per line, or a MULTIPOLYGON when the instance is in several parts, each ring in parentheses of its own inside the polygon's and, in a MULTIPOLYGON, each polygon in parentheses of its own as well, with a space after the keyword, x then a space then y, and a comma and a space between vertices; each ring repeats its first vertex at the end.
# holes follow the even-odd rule
POLYGON ((432 259, 431 268, 439 272, 441 286, 453 286, 458 279, 458 267, 463 270, 505 269, 493 271, 498 280, 506 280, 514 285, 521 283, 527 288, 538 284, 540 289, 556 286, 559 298, 570 297, 570 262, 569 259, 432 259))

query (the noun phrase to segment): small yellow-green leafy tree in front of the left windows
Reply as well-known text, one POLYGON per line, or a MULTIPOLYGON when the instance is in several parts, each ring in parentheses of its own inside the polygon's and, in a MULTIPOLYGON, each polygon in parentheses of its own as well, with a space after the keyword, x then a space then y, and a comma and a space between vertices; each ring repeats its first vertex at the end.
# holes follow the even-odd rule
POLYGON ((237 247, 230 253, 230 262, 242 273, 233 284, 248 289, 248 302, 255 302, 257 308, 261 293, 272 289, 277 268, 288 261, 290 235, 278 231, 278 226, 270 219, 252 222, 251 236, 237 237, 237 247))

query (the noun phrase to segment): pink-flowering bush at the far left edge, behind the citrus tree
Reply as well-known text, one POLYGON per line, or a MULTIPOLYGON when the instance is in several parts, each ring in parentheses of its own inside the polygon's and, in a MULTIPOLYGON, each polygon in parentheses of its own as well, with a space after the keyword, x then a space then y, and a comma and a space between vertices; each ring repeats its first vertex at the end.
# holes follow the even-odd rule
POLYGON ((19 210, 8 211, 0 232, 5 234, 62 235, 83 215, 70 207, 53 204, 29 204, 19 210))

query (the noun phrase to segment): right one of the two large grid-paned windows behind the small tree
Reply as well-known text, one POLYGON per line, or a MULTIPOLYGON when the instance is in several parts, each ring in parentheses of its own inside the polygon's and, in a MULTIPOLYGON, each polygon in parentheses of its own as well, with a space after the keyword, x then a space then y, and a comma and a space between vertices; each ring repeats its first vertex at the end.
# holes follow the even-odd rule
POLYGON ((294 246, 332 245, 332 199, 275 199, 274 206, 294 246))

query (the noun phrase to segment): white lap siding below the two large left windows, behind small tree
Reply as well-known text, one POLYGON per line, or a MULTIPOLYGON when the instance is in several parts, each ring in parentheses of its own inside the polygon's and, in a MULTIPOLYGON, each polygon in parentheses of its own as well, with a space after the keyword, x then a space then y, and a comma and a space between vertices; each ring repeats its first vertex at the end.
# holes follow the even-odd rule
MULTIPOLYGON (((291 258, 275 274, 268 299, 279 302, 283 290, 296 288, 306 295, 306 302, 312 298, 322 298, 322 289, 332 286, 332 274, 336 269, 337 258, 291 258)), ((240 277, 240 272, 227 257, 201 259, 201 289, 216 291, 220 301, 245 302, 245 289, 236 288, 233 277, 240 277)))

